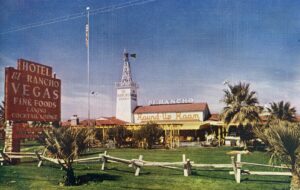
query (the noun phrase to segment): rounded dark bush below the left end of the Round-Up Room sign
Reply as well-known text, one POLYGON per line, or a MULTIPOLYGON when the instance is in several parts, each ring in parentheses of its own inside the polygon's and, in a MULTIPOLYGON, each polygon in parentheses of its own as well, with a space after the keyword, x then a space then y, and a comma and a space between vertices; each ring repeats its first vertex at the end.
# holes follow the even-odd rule
POLYGON ((156 123, 147 123, 136 132, 135 138, 140 141, 145 140, 146 148, 151 149, 163 134, 163 129, 156 123))

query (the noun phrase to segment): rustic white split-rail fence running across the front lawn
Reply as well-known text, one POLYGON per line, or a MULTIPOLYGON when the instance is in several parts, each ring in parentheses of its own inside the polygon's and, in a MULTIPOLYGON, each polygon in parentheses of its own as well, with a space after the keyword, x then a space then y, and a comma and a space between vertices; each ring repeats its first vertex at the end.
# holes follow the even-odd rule
MULTIPOLYGON (((41 167, 44 161, 52 162, 54 164, 64 164, 64 160, 57 158, 50 158, 45 156, 45 151, 43 153, 29 153, 29 152, 0 152, 0 162, 1 165, 3 163, 10 164, 12 159, 21 159, 21 158, 34 158, 38 160, 38 167, 41 167)), ((88 158, 80 158, 73 160, 75 163, 90 163, 90 162, 100 162, 101 170, 105 170, 109 163, 121 163, 126 164, 129 167, 134 168, 135 176, 139 176, 140 171, 143 167, 162 167, 168 169, 177 169, 183 170, 184 176, 189 176, 192 174, 193 168, 232 168, 233 171, 229 171, 230 175, 234 175, 235 181, 237 183, 241 182, 242 175, 263 175, 263 176, 291 176, 291 172, 274 172, 274 171, 249 171, 243 170, 243 166, 260 166, 260 167, 269 167, 269 168, 279 168, 287 170, 287 166, 275 166, 275 165, 267 165, 267 164, 259 164, 259 163, 251 163, 251 162, 242 162, 242 154, 247 154, 245 151, 232 151, 228 154, 234 155, 231 156, 231 164, 197 164, 190 159, 186 158, 186 155, 182 155, 182 161, 180 162, 153 162, 143 160, 143 155, 139 155, 136 159, 124 159, 118 158, 114 156, 110 156, 105 151, 103 154, 99 154, 95 157, 88 158)))

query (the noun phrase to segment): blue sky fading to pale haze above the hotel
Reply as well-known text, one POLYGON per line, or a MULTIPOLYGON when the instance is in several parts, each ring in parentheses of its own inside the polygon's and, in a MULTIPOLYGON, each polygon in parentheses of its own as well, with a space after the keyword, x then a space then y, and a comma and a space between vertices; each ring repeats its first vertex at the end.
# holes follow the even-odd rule
MULTIPOLYGON (((0 99, 4 67, 30 59, 62 79, 62 117, 86 117, 86 17, 6 32, 124 2, 133 1, 1 1, 0 99)), ((131 65, 140 105, 191 97, 219 112, 228 80, 251 83, 262 105, 285 100, 300 112, 299 9, 286 0, 153 0, 91 15, 92 117, 115 114, 124 48, 137 54, 131 65)))

